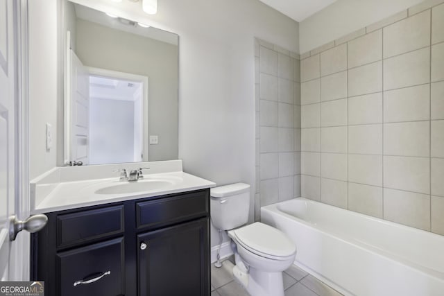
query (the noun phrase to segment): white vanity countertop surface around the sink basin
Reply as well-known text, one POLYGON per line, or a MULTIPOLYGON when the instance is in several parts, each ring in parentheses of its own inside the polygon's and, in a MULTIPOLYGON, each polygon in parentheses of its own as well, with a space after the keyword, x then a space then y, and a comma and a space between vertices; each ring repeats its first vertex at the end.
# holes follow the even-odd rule
POLYGON ((130 182, 119 181, 119 177, 78 180, 73 182, 39 182, 34 184, 32 189, 35 205, 31 209, 31 214, 75 209, 78 207, 89 207, 98 204, 121 202, 123 200, 133 200, 137 198, 149 198, 151 196, 194 191, 216 186, 216 183, 214 182, 184 173, 182 171, 145 175, 142 180, 131 182, 131 184, 135 184, 135 182, 142 183, 155 180, 165 181, 167 185, 162 185, 160 189, 153 188, 144 191, 140 191, 139 189, 137 192, 114 194, 99 194, 98 192, 101 192, 101 189, 103 190, 105 188, 109 188, 110 186, 131 186, 126 185, 130 184, 130 182))

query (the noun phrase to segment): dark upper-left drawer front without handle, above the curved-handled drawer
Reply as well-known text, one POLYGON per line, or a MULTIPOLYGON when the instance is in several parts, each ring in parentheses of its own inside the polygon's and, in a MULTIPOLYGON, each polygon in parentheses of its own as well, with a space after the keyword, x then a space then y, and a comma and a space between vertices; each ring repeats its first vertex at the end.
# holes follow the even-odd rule
POLYGON ((57 247, 123 232, 123 204, 57 216, 57 247))

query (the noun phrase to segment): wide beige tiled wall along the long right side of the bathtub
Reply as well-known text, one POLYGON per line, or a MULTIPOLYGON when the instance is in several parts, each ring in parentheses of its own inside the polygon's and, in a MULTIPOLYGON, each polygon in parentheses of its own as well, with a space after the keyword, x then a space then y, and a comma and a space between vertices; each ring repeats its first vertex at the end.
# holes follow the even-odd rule
POLYGON ((301 55, 302 197, 444 234, 439 2, 301 55))

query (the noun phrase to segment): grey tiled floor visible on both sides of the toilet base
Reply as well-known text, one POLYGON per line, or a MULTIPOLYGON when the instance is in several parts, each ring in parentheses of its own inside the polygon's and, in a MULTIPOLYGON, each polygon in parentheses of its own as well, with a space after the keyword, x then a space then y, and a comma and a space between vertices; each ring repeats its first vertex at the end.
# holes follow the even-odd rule
MULTIPOLYGON (((234 280, 232 259, 225 260, 221 268, 211 266, 211 296, 249 296, 234 280), (231 260, 231 261, 230 261, 231 260)), ((340 296, 341 293, 322 281, 292 265, 284 271, 285 296, 340 296)))

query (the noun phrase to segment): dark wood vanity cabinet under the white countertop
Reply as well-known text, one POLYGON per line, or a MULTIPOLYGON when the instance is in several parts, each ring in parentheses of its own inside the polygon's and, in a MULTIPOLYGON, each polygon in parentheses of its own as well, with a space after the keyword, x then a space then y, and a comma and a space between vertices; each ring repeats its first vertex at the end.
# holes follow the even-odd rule
POLYGON ((210 295, 210 189, 46 215, 31 235, 46 296, 210 295))

